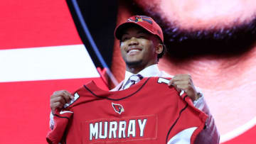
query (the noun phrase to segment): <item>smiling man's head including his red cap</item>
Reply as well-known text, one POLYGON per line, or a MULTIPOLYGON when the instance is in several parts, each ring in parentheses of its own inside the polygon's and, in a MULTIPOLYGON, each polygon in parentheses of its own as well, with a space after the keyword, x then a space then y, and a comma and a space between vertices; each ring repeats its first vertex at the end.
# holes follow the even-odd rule
POLYGON ((114 35, 120 40, 122 57, 127 66, 154 65, 164 55, 164 36, 150 17, 132 16, 117 26, 114 35))

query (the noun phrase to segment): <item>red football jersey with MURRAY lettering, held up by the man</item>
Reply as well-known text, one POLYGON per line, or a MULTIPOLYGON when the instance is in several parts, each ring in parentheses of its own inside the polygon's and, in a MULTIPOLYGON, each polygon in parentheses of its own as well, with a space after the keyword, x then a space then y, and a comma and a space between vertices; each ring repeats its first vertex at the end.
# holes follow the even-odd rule
POLYGON ((48 143, 193 143, 207 115, 180 96, 169 79, 144 78, 129 89, 107 92, 90 82, 55 111, 48 143), (184 142, 183 142, 184 141, 184 142))

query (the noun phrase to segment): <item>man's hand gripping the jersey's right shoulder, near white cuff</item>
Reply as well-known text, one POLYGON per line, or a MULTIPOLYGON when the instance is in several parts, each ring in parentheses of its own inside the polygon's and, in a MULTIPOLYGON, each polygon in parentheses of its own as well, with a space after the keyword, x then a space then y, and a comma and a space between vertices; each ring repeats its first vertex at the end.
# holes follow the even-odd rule
POLYGON ((176 74, 169 82, 169 87, 174 86, 178 92, 183 90, 188 94, 192 101, 196 101, 199 98, 198 92, 193 85, 191 75, 189 74, 176 74))

